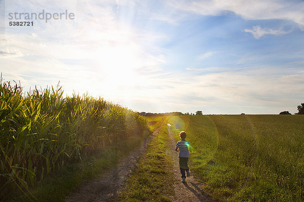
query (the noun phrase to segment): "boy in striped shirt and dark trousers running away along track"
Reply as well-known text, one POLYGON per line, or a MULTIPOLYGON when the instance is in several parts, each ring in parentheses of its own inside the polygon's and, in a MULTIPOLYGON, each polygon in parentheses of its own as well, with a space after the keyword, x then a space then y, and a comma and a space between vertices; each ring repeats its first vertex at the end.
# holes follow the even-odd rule
POLYGON ((189 167, 188 167, 188 159, 189 159, 189 149, 191 149, 190 143, 185 140, 187 134, 185 131, 181 131, 179 133, 180 141, 176 143, 175 151, 179 151, 179 169, 181 173, 182 182, 185 182, 186 176, 185 172, 187 173, 187 177, 190 176, 189 167))

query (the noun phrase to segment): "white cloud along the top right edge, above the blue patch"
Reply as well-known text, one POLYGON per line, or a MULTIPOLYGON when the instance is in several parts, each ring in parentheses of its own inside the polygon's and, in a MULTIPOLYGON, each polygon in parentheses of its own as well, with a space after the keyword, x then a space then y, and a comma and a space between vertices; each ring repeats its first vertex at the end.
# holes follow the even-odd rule
POLYGON ((171 1, 170 5, 178 10, 200 15, 221 15, 234 12, 248 20, 282 19, 290 20, 304 30, 304 2, 283 0, 206 0, 171 1))

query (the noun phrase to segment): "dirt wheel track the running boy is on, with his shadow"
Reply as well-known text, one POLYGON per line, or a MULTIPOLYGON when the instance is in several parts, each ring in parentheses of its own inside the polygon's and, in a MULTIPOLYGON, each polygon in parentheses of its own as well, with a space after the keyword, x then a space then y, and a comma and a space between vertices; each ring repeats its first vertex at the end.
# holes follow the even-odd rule
POLYGON ((181 182, 181 174, 179 171, 179 163, 178 163, 178 153, 175 151, 175 140, 173 138, 173 134, 168 129, 168 134, 171 139, 171 147, 168 149, 168 155, 172 157, 174 163, 173 172, 175 174, 175 183, 174 183, 174 191, 175 196, 169 196, 173 201, 180 202, 193 202, 193 201, 215 201, 211 196, 207 193, 203 192, 203 183, 198 182, 196 178, 193 176, 190 168, 190 177, 186 178, 186 182, 181 182))

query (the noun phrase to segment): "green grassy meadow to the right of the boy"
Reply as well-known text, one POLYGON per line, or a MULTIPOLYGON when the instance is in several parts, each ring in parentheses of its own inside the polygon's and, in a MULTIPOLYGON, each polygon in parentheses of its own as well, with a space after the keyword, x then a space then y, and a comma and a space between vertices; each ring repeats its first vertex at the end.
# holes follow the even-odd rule
POLYGON ((227 201, 304 201, 304 116, 211 115, 169 120, 187 132, 192 171, 227 201))

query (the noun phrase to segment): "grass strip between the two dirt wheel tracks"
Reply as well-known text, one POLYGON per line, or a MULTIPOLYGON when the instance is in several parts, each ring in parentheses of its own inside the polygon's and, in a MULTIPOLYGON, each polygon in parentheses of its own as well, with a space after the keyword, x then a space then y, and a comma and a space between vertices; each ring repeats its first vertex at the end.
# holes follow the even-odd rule
POLYGON ((169 143, 164 125, 147 146, 119 201, 172 201, 167 197, 174 195, 173 165, 166 155, 169 143))

